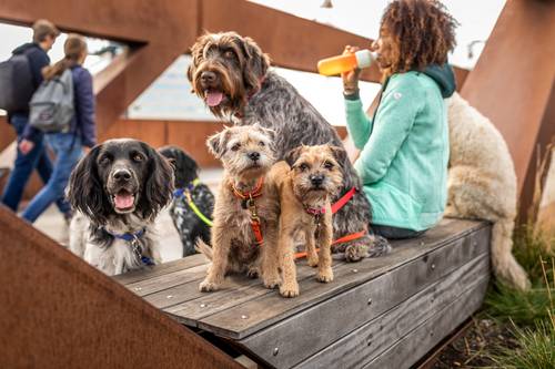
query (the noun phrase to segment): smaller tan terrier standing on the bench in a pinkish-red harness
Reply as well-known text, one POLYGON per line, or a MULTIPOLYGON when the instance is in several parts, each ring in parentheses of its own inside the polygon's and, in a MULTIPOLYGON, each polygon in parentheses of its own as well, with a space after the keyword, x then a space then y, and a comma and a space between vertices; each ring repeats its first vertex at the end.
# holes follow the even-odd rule
POLYGON ((341 147, 300 146, 285 155, 286 163, 280 162, 272 168, 272 175, 279 178, 281 215, 278 255, 283 277, 280 294, 284 297, 299 295, 295 239, 305 239, 307 263, 319 267, 316 279, 323 283, 333 280, 331 199, 342 186, 339 163, 343 163, 345 157, 346 153, 341 147))

